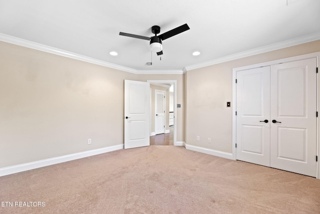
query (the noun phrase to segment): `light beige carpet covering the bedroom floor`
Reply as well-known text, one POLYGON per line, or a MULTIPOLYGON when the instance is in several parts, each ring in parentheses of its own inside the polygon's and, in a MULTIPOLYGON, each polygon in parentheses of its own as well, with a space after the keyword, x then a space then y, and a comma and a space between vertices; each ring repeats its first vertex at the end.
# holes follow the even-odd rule
POLYGON ((0 200, 13 202, 0 213, 320 213, 320 180, 149 146, 2 176, 0 200), (45 206, 14 206, 28 201, 45 206))

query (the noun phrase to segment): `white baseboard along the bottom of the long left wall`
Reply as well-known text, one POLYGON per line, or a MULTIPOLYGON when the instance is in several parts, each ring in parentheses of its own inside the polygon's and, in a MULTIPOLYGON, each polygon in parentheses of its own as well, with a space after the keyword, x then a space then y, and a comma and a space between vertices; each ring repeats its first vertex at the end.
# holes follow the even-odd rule
POLYGON ((89 150, 89 151, 78 152, 78 153, 74 153, 74 154, 63 155, 63 156, 59 156, 59 157, 52 157, 52 158, 48 158, 48 159, 44 159, 44 160, 38 160, 38 161, 8 166, 8 167, 3 167, 3 168, 0 168, 0 176, 13 174, 13 173, 21 172, 21 171, 26 171, 26 170, 30 170, 30 169, 40 168, 43 166, 49 166, 49 165, 62 163, 62 162, 70 161, 70 160, 75 160, 75 159, 79 159, 79 158, 83 158, 83 157, 102 154, 105 152, 115 151, 115 150, 119 150, 119 149, 123 149, 123 144, 118 144, 115 146, 108 146, 108 147, 99 148, 99 149, 93 149, 93 150, 89 150))

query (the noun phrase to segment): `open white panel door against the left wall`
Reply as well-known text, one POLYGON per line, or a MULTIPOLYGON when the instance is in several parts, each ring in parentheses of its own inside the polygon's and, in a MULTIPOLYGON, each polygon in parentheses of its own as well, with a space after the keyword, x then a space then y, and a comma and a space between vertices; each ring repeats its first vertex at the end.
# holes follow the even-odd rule
POLYGON ((124 148, 150 145, 150 84, 124 80, 124 148))

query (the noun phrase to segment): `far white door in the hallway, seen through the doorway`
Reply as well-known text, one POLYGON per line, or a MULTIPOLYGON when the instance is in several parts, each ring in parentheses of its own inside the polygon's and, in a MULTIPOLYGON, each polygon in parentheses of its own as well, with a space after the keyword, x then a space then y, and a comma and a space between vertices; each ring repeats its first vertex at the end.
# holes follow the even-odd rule
POLYGON ((155 90, 154 92, 154 132, 163 134, 165 127, 165 92, 155 90))

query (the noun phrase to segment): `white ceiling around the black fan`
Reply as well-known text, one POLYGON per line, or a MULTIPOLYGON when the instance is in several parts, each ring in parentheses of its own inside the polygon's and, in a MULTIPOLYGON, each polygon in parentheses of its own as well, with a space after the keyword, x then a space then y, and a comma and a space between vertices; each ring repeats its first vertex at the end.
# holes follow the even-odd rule
POLYGON ((320 39, 320 1, 0 0, 0 34, 138 71, 182 70, 296 38, 320 39), (185 23, 190 30, 163 41, 161 61, 153 53, 152 66, 148 41, 118 35, 150 37, 153 25, 161 34, 185 23))

